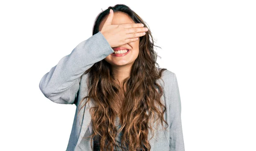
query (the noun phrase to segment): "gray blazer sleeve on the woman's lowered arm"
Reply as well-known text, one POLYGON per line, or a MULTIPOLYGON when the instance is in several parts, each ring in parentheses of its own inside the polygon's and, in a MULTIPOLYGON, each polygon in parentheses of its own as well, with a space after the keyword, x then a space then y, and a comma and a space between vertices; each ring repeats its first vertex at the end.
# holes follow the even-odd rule
POLYGON ((181 102, 176 74, 173 73, 172 92, 170 97, 170 150, 185 151, 181 125, 181 102))

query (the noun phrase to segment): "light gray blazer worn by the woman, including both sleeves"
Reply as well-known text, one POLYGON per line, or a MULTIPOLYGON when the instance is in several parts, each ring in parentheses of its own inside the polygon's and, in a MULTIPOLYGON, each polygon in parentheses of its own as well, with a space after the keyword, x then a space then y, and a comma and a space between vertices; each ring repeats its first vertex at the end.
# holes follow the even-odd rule
MULTIPOLYGON (((52 102, 77 106, 66 151, 91 151, 90 138, 82 137, 87 137, 92 132, 89 108, 94 106, 93 101, 88 102, 78 114, 78 105, 87 96, 88 91, 87 74, 84 72, 113 52, 108 41, 99 31, 79 43, 69 55, 61 58, 56 66, 44 74, 39 83, 39 88, 44 96, 52 102), (77 117, 78 121, 76 122, 77 117)), ((162 79, 164 83, 161 80, 158 80, 157 83, 164 86, 162 96, 163 103, 166 105, 164 118, 168 122, 169 128, 164 130, 162 125, 159 128, 153 128, 154 137, 149 140, 151 151, 184 151, 177 77, 172 71, 166 70, 163 72, 162 79)), ((151 137, 152 133, 149 133, 148 139, 151 137)))

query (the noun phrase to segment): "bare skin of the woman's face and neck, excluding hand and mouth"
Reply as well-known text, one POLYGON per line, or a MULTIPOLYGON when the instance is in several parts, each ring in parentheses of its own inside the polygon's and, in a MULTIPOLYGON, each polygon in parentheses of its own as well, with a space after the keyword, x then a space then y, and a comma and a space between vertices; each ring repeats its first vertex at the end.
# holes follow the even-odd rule
MULTIPOLYGON (((105 17, 100 23, 99 31, 101 31, 102 26, 104 25, 106 20, 107 20, 107 17, 105 17)), ((135 22, 127 14, 123 12, 114 12, 112 25, 125 24, 125 23, 135 23, 135 22)), ((140 39, 131 43, 126 43, 122 46, 118 46, 118 47, 126 47, 128 49, 131 49, 130 52, 125 56, 115 57, 110 54, 105 58, 105 60, 111 64, 113 75, 115 79, 119 81, 120 86, 122 86, 123 80, 126 77, 130 76, 131 67, 139 55, 139 43, 140 43, 140 39)))

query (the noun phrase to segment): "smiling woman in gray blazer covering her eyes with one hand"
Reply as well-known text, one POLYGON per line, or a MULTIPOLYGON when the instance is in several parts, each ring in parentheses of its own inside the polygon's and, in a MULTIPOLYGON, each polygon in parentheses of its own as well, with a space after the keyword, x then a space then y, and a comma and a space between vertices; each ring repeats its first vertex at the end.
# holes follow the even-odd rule
POLYGON ((49 100, 77 106, 67 151, 184 151, 177 78, 156 67, 150 37, 128 6, 109 7, 42 77, 49 100))

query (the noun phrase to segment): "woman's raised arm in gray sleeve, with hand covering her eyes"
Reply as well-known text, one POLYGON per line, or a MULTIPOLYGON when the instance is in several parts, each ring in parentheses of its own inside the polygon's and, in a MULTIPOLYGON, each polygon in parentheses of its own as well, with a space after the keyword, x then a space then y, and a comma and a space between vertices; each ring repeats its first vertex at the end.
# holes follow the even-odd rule
POLYGON ((55 103, 73 104, 77 99, 81 75, 113 53, 112 47, 134 42, 145 31, 141 23, 112 25, 111 9, 102 29, 79 43, 71 54, 63 57, 56 66, 42 77, 39 88, 44 96, 55 103))

